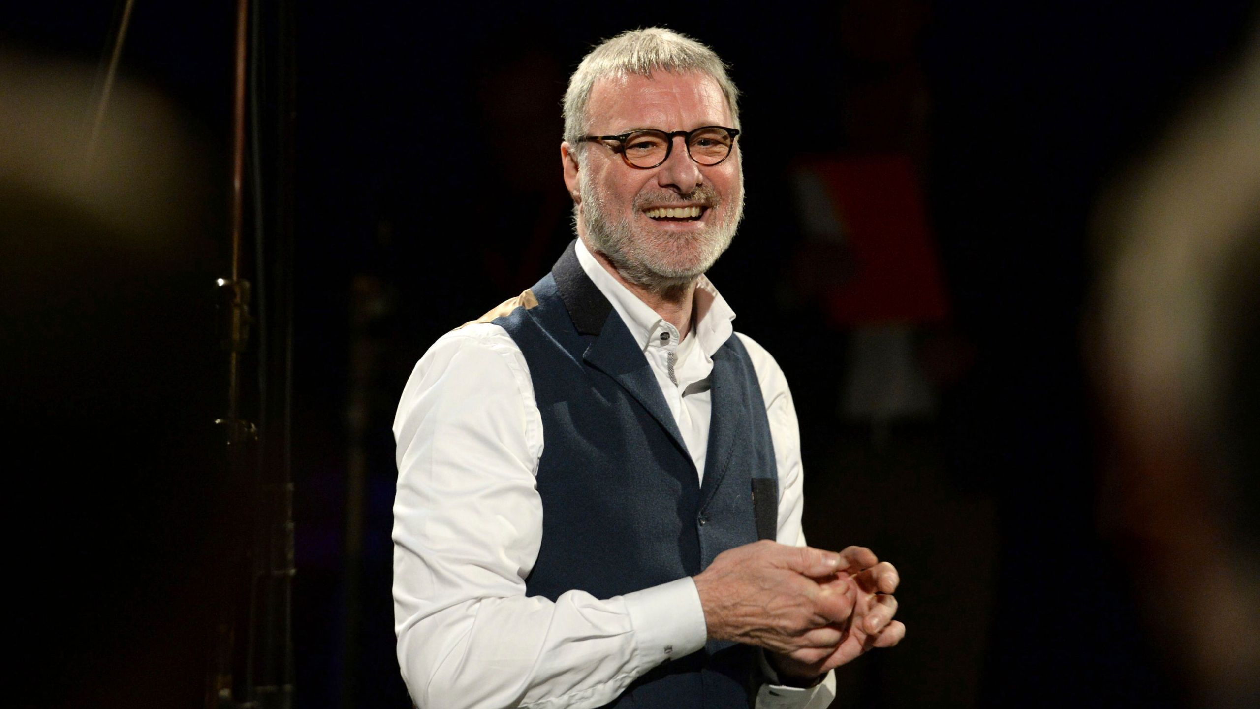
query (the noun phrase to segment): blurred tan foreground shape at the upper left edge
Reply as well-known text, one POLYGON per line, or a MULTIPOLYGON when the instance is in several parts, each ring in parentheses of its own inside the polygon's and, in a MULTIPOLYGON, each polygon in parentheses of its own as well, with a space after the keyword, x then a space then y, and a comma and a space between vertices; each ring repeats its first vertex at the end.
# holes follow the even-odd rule
POLYGON ((195 174, 188 168, 194 163, 179 116, 141 85, 115 86, 89 156, 92 82, 88 67, 0 50, 6 242, 18 228, 39 227, 10 220, 28 212, 32 202, 47 202, 58 204, 66 218, 82 216, 98 225, 93 233, 152 247, 180 228, 193 201, 204 197, 193 189, 195 174))

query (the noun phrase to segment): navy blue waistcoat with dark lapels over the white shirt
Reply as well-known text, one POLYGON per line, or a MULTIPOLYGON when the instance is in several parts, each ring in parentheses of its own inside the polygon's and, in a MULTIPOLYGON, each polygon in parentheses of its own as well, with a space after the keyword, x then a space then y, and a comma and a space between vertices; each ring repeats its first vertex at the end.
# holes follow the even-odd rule
MULTIPOLYGON (((572 243, 532 291, 522 298, 528 307, 494 320, 529 365, 543 421, 543 537, 527 594, 621 595, 774 539, 774 444, 740 339, 732 334, 713 354, 702 484, 641 343, 582 271, 572 243)), ((750 646, 709 641, 639 677, 607 706, 743 706, 753 662, 750 646)))

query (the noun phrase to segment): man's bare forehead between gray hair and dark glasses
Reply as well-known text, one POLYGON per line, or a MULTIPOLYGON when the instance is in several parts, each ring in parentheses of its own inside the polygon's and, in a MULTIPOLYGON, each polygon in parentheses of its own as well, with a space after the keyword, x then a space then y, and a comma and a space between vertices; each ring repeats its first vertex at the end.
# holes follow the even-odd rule
POLYGON ((598 135, 640 127, 692 130, 731 125, 731 110, 713 77, 697 72, 656 72, 649 77, 604 77, 591 87, 591 131, 598 135))

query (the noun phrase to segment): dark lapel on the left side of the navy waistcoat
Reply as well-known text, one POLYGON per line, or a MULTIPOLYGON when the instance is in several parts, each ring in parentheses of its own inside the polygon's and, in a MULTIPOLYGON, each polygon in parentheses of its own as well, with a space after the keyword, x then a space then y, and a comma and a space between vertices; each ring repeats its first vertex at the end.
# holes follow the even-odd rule
POLYGON ((660 385, 656 384, 651 365, 643 354, 641 344, 634 341, 630 329, 621 322, 621 315, 612 309, 609 299, 582 270, 576 246, 576 241, 568 245, 552 266, 552 276, 578 334, 586 336, 591 342, 582 354, 583 361, 616 380, 651 414, 651 418, 669 434, 674 445, 690 460, 687 444, 683 443, 674 415, 669 411, 664 395, 660 394, 660 385))

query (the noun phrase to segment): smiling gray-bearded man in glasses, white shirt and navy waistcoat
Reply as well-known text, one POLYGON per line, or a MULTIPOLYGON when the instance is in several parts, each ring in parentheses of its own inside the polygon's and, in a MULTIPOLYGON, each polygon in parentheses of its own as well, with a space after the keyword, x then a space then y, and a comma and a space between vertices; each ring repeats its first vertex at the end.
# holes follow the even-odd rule
POLYGON ((736 90, 677 33, 564 97, 577 241, 398 406, 398 661, 421 708, 825 706, 897 573, 805 546, 782 372, 704 272, 743 208, 736 90))

